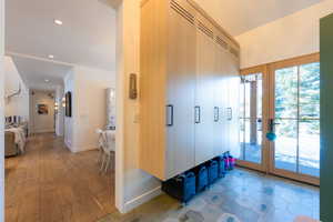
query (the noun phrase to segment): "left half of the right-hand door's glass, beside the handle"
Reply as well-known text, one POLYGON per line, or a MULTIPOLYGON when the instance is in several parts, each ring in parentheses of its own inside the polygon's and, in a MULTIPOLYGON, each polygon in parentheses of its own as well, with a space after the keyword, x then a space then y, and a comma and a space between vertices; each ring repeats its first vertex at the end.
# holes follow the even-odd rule
POLYGON ((278 169, 297 170, 297 67, 275 71, 275 152, 278 169))

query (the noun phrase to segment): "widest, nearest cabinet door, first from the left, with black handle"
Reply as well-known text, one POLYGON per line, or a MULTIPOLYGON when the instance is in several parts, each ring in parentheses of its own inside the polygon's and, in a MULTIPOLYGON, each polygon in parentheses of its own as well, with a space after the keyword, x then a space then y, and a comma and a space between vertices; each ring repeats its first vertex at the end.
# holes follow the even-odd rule
POLYGON ((195 27, 184 18, 188 13, 170 9, 167 94, 172 107, 167 111, 173 122, 167 127, 168 178, 194 167, 195 27))

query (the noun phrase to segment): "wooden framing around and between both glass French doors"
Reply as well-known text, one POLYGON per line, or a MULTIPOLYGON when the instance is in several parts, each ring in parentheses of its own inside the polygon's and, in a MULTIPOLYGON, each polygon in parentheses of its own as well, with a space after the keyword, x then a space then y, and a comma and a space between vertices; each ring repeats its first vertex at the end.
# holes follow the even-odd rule
POLYGON ((314 185, 320 185, 320 179, 312 175, 306 175, 302 173, 293 173, 291 171, 275 169, 274 165, 274 142, 270 142, 265 139, 265 133, 268 132, 268 121, 274 118, 275 110, 275 85, 274 85, 274 74, 275 70, 283 69, 293 65, 301 65, 306 63, 320 62, 320 53, 305 54, 301 57, 295 57, 286 60, 281 60, 272 63, 261 64, 252 68, 246 68, 241 70, 241 75, 248 75, 251 73, 262 73, 263 74, 263 141, 262 141, 262 164, 251 163, 242 160, 238 160, 238 165, 250 168, 265 173, 271 173, 274 175, 296 180, 300 182, 305 182, 314 185), (264 120, 265 119, 265 120, 264 120))

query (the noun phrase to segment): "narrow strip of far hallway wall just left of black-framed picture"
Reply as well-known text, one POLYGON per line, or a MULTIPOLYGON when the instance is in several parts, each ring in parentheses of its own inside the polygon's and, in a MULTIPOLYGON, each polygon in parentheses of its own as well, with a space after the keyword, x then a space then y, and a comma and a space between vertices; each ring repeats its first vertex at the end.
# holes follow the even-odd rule
POLYGON ((58 137, 63 137, 64 133, 64 108, 62 107, 63 97, 63 88, 58 87, 56 90, 56 102, 58 103, 58 110, 56 111, 56 134, 58 137))

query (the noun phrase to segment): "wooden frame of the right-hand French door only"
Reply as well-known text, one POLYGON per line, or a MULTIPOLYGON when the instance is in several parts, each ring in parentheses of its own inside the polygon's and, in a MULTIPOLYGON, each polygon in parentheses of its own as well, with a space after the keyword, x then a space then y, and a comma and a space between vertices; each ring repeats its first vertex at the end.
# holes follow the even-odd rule
MULTIPOLYGON (((278 69, 283 69, 287 67, 295 67, 295 65, 302 65, 306 63, 313 63, 313 62, 320 62, 320 53, 312 53, 312 54, 306 54, 302 57, 296 57, 287 60, 282 60, 278 62, 273 62, 268 65, 269 70, 269 85, 270 85, 270 93, 269 93, 269 118, 274 119, 275 118, 275 82, 274 82, 274 74, 275 70, 278 69)), ((302 174, 297 172, 291 172, 287 170, 283 169, 276 169, 274 165, 274 155, 275 155, 275 143, 274 142, 269 142, 269 159, 270 159, 270 164, 269 164, 269 172, 275 175, 280 175, 283 178, 289 178, 292 180, 314 184, 314 185, 320 185, 320 178, 307 175, 307 174, 302 174)))

